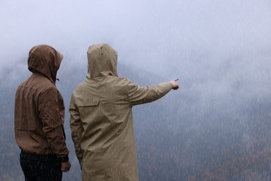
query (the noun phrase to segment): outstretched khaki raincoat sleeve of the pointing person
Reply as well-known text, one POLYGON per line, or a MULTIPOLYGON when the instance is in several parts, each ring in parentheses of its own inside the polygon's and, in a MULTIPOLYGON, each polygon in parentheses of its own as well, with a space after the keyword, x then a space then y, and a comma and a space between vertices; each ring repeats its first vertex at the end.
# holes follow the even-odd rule
POLYGON ((170 82, 144 87, 133 84, 133 82, 130 81, 128 86, 128 97, 132 106, 145 104, 158 100, 171 89, 172 84, 170 82))

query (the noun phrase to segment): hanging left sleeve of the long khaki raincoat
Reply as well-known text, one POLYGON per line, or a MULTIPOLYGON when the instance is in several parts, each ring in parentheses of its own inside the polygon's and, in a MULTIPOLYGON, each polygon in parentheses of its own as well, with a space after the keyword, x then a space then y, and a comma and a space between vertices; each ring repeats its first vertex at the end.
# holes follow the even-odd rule
POLYGON ((70 119, 69 119, 69 125, 72 130, 72 141, 74 141, 74 148, 76 152, 76 157, 79 160, 79 162, 82 162, 83 159, 83 151, 81 150, 81 137, 83 134, 83 125, 81 122, 79 109, 74 103, 74 96, 72 95, 71 102, 69 104, 69 113, 70 113, 70 119))

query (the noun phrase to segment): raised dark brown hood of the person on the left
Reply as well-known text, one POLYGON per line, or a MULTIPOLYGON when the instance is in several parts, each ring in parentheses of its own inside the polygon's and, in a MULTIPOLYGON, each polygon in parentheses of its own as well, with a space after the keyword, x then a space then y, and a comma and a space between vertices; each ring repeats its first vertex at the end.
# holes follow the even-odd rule
POLYGON ((39 72, 52 82, 56 82, 56 74, 63 55, 49 45, 37 45, 29 51, 28 70, 39 72))

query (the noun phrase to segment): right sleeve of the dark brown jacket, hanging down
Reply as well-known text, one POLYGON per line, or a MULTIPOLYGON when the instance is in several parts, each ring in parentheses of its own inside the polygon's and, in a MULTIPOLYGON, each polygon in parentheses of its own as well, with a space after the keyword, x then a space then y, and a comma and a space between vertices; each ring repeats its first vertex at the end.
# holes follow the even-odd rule
POLYGON ((51 149, 61 159, 61 162, 67 162, 69 150, 65 143, 64 120, 59 111, 58 91, 55 88, 44 91, 39 96, 38 107, 42 120, 42 131, 47 137, 51 149))

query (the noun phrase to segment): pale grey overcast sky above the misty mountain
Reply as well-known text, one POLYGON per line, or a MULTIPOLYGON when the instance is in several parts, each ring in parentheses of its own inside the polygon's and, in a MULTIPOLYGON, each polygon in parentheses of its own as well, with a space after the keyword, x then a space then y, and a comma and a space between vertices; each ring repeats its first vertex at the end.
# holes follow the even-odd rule
POLYGON ((0 24, 0 77, 8 74, 10 84, 22 81, 34 45, 64 54, 61 74, 86 72, 88 46, 107 42, 119 63, 161 81, 179 77, 205 99, 236 89, 244 97, 270 97, 269 0, 1 0, 0 24))

